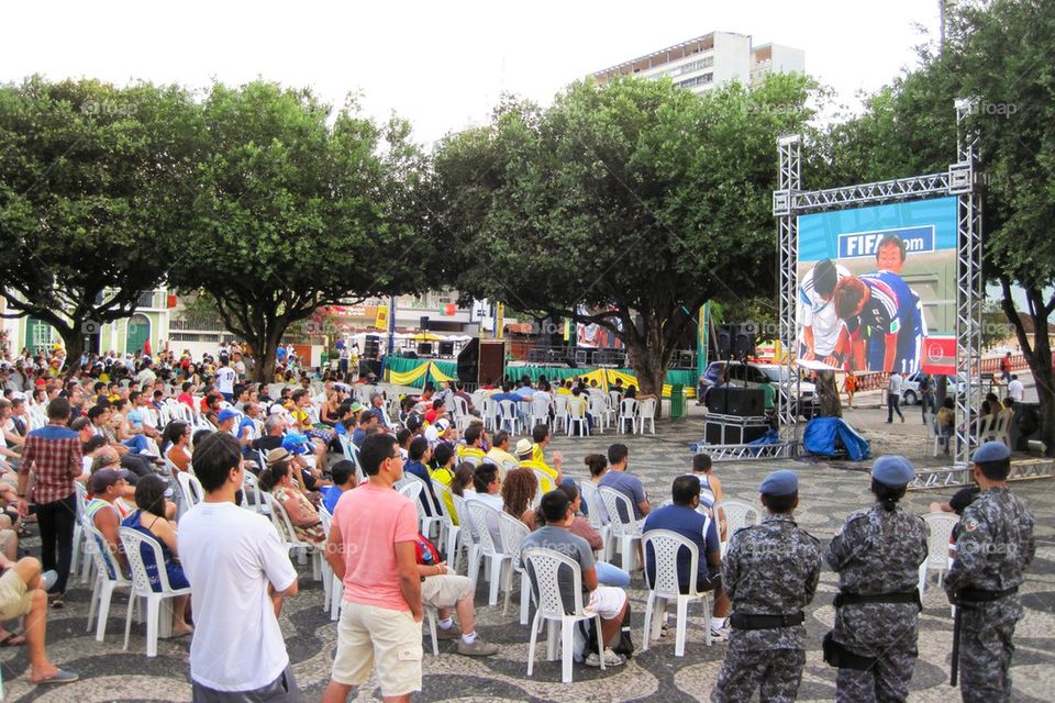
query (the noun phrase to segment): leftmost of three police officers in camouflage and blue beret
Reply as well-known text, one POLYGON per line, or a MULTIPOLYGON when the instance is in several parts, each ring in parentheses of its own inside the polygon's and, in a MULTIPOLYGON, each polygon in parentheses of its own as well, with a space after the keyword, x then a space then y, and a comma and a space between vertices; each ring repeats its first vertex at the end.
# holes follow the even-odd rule
POLYGON ((758 487, 767 514, 737 529, 722 559, 722 583, 733 602, 725 661, 711 700, 762 703, 795 700, 806 665, 803 610, 821 576, 818 540, 791 513, 799 504, 793 471, 774 471, 758 487))

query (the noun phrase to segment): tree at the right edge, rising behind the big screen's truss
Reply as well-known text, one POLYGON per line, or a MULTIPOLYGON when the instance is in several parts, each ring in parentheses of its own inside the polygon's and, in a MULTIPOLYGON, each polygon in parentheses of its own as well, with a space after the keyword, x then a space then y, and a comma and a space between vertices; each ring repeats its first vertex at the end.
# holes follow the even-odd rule
POLYGON ((1042 436, 1055 456, 1055 377, 1047 323, 1055 312, 1055 45, 1052 0, 964 3, 943 53, 877 93, 866 113, 824 137, 814 171, 859 182, 945 170, 956 154, 954 100, 969 98, 965 125, 979 136, 985 172, 984 271, 1036 383, 1042 436), (1024 291, 1017 310, 1013 287, 1024 291), (1023 316, 1032 317, 1032 336, 1023 316))

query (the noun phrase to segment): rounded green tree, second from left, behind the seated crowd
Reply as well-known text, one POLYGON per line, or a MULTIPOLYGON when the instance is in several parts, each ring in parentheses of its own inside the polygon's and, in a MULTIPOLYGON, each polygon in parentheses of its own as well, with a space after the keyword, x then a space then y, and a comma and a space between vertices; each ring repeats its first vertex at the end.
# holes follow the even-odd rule
POLYGON ((378 126, 354 103, 253 82, 213 87, 195 213, 170 280, 203 289, 271 377, 289 326, 321 305, 429 284, 422 210, 410 188, 424 159, 406 123, 378 126))

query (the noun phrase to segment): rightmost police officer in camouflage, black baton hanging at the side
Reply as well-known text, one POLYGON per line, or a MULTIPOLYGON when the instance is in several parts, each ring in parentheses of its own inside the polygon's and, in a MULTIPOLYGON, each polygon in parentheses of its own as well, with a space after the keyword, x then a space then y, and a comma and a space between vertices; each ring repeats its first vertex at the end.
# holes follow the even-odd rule
POLYGON ((956 556, 945 592, 958 609, 959 691, 964 703, 1011 700, 1014 625, 1022 617, 1019 587, 1033 560, 1033 515, 1008 490, 1011 451, 987 442, 970 457, 981 489, 956 528, 956 556))

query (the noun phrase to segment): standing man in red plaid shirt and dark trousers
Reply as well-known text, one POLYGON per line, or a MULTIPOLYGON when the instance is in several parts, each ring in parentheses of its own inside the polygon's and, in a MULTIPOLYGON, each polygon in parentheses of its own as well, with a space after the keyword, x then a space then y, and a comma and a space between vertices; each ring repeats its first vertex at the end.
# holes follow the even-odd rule
POLYGON ((19 515, 24 517, 29 513, 25 496, 32 479, 31 499, 36 505, 41 528, 41 562, 45 571, 54 569, 58 573, 51 591, 53 606, 62 604, 66 591, 77 521, 74 478, 82 470, 80 439, 66 426, 69 413, 69 400, 65 398, 56 398, 48 404, 48 424, 25 437, 19 471, 19 515))

